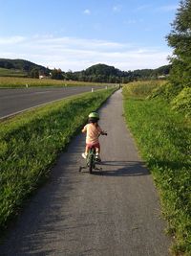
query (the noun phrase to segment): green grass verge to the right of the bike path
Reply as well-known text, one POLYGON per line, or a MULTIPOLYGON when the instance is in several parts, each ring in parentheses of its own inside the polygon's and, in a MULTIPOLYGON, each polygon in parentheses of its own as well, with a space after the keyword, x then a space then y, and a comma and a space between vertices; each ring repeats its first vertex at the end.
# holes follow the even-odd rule
POLYGON ((150 90, 149 86, 131 83, 123 87, 125 118, 158 187, 167 231, 174 237, 171 252, 188 256, 191 255, 191 121, 162 99, 148 100, 155 85, 150 90), (141 91, 147 93, 141 96, 141 91))

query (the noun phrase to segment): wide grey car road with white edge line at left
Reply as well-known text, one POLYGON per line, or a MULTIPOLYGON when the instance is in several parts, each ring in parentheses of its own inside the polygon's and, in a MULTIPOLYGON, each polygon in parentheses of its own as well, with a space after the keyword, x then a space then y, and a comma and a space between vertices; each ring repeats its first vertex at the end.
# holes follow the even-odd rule
POLYGON ((74 94, 100 89, 102 86, 62 88, 0 89, 0 118, 35 105, 42 105, 74 94))

